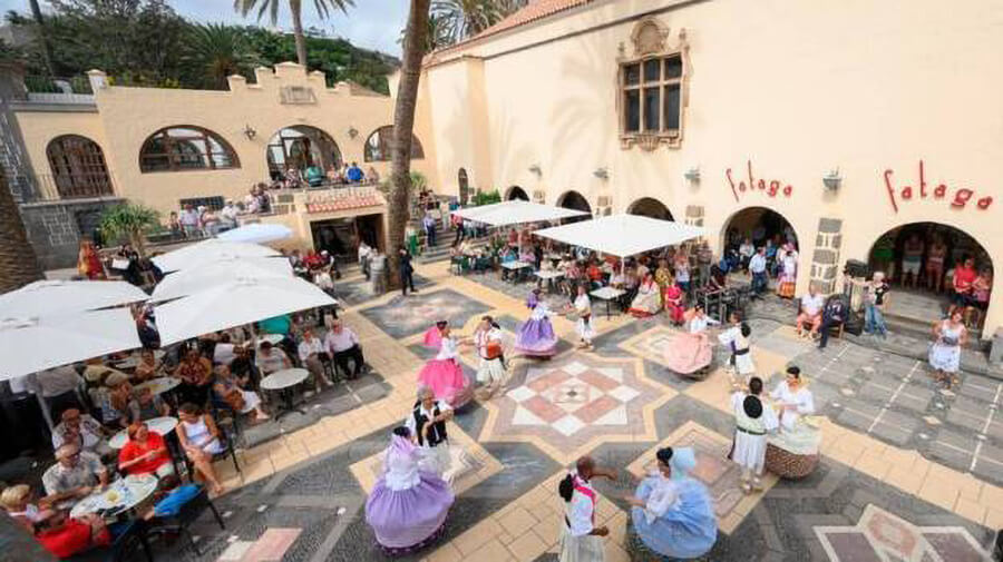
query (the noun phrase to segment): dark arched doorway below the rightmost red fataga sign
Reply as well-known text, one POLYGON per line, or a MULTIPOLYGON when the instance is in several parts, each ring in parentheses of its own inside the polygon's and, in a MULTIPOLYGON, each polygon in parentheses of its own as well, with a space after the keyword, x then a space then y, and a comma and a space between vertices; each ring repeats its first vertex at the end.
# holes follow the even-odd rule
MULTIPOLYGON (((955 268, 967 259, 976 273, 993 274, 989 253, 964 230, 941 223, 909 223, 879 236, 867 265, 897 285, 900 295, 890 299, 888 314, 929 323, 948 309, 955 268)), ((984 310, 973 308, 970 325, 978 327, 984 310)))

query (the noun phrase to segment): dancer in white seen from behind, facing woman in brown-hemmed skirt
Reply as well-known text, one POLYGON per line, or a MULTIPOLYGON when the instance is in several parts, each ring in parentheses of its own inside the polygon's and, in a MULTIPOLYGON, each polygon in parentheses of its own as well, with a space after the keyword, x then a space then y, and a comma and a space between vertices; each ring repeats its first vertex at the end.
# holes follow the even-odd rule
POLYGON ((731 460, 742 467, 742 492, 762 491, 762 469, 766 461, 766 435, 777 430, 779 421, 772 407, 761 398, 762 379, 753 376, 749 392, 731 395, 734 413, 734 447, 731 460))

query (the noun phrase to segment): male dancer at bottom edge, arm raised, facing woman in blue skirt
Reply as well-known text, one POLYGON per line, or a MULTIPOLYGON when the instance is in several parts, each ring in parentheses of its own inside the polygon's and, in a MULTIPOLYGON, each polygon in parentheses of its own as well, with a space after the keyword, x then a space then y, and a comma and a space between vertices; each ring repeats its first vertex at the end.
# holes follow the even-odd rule
POLYGON ((604 560, 603 536, 610 534, 605 526, 595 526, 595 502, 598 494, 592 487, 592 479, 605 476, 616 479, 611 470, 598 469, 591 456, 583 456, 575 463, 557 485, 557 493, 564 500, 564 531, 561 534, 561 562, 602 562, 604 560))

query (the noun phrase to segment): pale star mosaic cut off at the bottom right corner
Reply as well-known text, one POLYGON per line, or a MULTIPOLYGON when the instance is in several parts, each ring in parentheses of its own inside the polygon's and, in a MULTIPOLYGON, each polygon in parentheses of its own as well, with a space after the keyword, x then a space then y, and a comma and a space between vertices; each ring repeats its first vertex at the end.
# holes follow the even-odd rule
POLYGON ((854 526, 816 526, 834 562, 981 562, 989 560, 961 526, 917 526, 875 505, 867 505, 854 526))

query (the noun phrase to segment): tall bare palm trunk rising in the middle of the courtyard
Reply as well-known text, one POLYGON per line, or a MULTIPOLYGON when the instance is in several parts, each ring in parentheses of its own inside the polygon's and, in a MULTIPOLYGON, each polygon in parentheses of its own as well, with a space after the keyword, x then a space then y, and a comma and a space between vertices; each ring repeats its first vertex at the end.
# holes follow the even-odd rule
POLYGON ((421 59, 426 52, 428 9, 430 0, 411 0, 408 27, 405 30, 400 82, 397 87, 397 105, 393 108, 393 146, 390 147, 390 200, 388 201, 388 230, 390 239, 390 284, 400 282, 397 259, 403 247, 405 228, 410 219, 411 197, 411 137, 415 129, 415 106, 418 103, 418 81, 421 78, 421 59))

